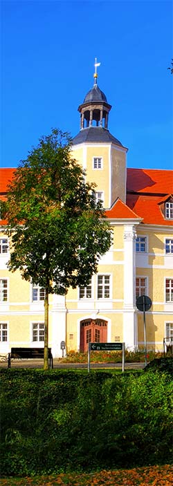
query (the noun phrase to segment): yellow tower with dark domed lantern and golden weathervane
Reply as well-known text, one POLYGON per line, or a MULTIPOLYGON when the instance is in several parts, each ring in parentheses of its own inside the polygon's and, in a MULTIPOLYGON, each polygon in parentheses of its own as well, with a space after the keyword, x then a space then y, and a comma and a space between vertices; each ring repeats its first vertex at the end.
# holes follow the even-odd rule
POLYGON ((110 208, 119 197, 126 202, 127 148, 109 132, 111 105, 98 86, 95 59, 94 83, 78 107, 80 132, 73 138, 73 156, 86 169, 86 179, 97 184, 96 198, 110 208))

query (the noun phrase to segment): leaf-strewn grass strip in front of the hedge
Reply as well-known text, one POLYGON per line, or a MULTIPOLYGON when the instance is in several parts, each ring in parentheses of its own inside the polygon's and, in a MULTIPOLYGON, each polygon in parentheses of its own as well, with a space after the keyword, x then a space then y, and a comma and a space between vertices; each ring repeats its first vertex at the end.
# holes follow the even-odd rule
POLYGON ((170 465, 99 471, 91 474, 58 474, 34 478, 4 478, 1 486, 172 486, 170 465))

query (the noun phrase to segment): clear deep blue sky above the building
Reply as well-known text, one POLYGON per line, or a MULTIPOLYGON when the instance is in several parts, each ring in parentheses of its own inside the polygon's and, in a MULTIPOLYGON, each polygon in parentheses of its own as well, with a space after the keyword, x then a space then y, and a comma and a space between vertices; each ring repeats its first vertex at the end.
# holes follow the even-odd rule
POLYGON ((127 167, 172 169, 172 1, 1 1, 1 167, 17 167, 52 128, 80 130, 98 86, 127 167))

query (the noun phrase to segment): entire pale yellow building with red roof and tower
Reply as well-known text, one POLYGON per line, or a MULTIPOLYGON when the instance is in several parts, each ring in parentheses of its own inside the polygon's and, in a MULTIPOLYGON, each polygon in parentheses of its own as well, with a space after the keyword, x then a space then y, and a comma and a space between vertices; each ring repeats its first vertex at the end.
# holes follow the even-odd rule
MULTIPOLYGON (((173 198, 172 171, 127 169, 127 148, 108 129, 111 105, 98 87, 80 104, 80 132, 73 138, 72 156, 95 182, 113 241, 86 288, 69 289, 66 297, 51 295, 49 347, 61 357, 61 342, 69 351, 86 351, 89 342, 125 342, 144 348, 143 312, 136 298, 147 295, 147 349, 163 350, 163 338, 173 336, 173 198)), ((0 169, 1 197, 14 169, 0 169)), ((0 234, 0 355, 12 347, 44 346, 44 289, 9 272, 9 242, 1 220, 0 234)))

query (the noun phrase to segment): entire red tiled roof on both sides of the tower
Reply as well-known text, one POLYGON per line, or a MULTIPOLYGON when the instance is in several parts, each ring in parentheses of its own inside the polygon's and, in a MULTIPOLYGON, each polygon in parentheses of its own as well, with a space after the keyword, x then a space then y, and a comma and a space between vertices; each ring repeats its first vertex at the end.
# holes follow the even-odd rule
MULTIPOLYGON (((15 168, 0 169, 0 196, 4 198, 8 183, 12 180, 15 168)), ((173 193, 173 172, 155 169, 127 169, 126 205, 118 198, 106 211, 107 218, 143 219, 151 225, 170 225, 173 221, 165 219, 161 203, 173 193)), ((5 221, 1 221, 1 225, 5 221)))

